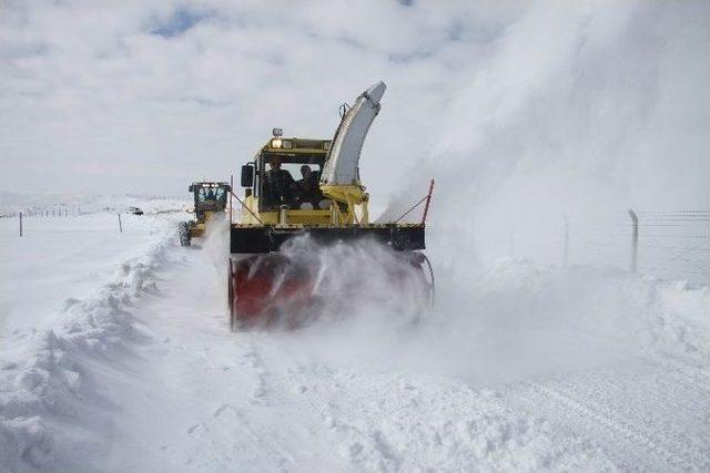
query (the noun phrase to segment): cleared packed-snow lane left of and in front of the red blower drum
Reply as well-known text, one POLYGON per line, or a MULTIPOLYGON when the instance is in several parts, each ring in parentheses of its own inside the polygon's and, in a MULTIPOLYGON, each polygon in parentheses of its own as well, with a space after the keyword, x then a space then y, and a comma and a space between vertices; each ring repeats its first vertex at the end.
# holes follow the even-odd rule
POLYGON ((393 370, 364 356, 366 345, 339 340, 348 337, 339 327, 230 333, 215 284, 224 278, 204 251, 176 253, 158 275, 170 282, 136 313, 160 343, 140 350, 140 376, 122 373, 125 384, 112 389, 125 411, 108 470, 140 470, 146 459, 171 470, 256 471, 588 464, 575 463, 581 445, 491 393, 393 370))

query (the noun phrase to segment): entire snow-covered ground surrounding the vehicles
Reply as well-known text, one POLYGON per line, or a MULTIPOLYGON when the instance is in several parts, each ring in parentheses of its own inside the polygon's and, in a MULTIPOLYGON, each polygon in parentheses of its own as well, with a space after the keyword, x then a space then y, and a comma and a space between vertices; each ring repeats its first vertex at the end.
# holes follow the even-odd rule
POLYGON ((231 333, 183 217, 0 219, 0 471, 710 470, 707 287, 438 248, 419 323, 231 333))

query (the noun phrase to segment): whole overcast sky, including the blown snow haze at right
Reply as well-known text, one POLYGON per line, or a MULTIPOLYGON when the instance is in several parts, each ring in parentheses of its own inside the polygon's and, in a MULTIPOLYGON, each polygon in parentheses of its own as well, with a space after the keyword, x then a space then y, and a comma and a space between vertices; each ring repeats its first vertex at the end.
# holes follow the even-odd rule
POLYGON ((331 137, 383 80, 361 161, 375 207, 436 178, 454 229, 707 208, 708 24, 703 0, 3 0, 0 185, 186 194, 274 126, 331 137))

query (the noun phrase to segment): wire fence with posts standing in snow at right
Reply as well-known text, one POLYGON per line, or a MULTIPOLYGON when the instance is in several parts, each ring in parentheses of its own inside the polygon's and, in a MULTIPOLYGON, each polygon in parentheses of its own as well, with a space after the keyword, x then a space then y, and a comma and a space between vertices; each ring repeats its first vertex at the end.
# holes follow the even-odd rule
POLYGON ((570 214, 564 233, 567 264, 710 284, 710 210, 570 214))

